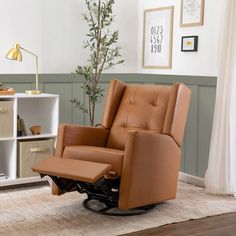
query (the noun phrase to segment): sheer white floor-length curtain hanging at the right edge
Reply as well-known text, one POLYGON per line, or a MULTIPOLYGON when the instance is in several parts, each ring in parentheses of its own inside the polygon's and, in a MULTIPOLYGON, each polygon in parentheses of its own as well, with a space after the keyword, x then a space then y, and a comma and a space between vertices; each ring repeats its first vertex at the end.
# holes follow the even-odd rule
POLYGON ((236 194, 236 1, 222 1, 216 104, 206 191, 236 194))

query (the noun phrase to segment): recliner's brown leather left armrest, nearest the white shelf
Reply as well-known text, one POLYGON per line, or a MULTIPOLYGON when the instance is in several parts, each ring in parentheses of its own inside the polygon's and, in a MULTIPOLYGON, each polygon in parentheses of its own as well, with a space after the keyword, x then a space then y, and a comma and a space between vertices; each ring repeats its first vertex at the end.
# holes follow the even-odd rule
POLYGON ((61 124, 58 128, 55 156, 61 157, 65 146, 87 145, 103 147, 109 131, 102 127, 61 124))

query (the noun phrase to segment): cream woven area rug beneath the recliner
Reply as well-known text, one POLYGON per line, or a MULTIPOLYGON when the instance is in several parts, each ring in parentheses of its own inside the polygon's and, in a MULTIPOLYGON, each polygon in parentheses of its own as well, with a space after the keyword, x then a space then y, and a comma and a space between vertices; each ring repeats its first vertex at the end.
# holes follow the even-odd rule
POLYGON ((236 211, 235 198, 209 195, 181 182, 177 199, 140 216, 98 215, 83 208, 84 198, 77 192, 52 196, 48 186, 1 191, 0 235, 121 235, 236 211))

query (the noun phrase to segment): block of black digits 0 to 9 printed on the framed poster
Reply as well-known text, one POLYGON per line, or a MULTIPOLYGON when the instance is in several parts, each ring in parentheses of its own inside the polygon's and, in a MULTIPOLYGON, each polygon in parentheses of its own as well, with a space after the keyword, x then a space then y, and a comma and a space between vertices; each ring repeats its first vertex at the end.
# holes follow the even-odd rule
POLYGON ((151 53, 161 53, 163 42, 163 26, 153 26, 151 28, 150 46, 151 53))

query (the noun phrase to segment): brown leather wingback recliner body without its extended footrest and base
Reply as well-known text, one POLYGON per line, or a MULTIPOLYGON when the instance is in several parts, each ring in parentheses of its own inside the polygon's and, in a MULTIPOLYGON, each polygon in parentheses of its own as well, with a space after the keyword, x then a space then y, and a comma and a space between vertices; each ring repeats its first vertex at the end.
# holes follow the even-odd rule
POLYGON ((111 164, 121 209, 173 199, 190 96, 183 84, 111 81, 102 128, 61 125, 56 156, 111 164))

